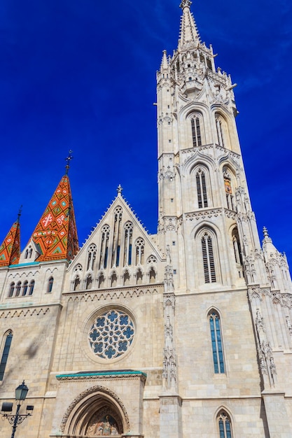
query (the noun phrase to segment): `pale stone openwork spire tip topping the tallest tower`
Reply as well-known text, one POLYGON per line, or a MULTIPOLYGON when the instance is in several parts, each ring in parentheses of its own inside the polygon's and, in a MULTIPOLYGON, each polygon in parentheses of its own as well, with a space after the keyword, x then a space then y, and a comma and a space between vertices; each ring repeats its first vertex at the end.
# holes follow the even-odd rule
POLYGON ((183 10, 181 16, 181 27, 179 35, 179 50, 183 48, 194 48, 200 44, 200 35, 197 31, 197 25, 195 24, 195 18, 193 13, 190 12, 190 0, 182 0, 180 8, 183 10))

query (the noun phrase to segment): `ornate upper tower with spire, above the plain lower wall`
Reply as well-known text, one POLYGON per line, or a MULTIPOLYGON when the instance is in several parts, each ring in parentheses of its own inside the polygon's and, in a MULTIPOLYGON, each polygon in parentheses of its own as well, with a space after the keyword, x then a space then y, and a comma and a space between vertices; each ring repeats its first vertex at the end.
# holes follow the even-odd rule
POLYGON ((181 292, 267 283, 263 266, 255 273, 251 262, 260 241, 235 124, 236 84, 216 69, 191 3, 181 2, 178 48, 163 52, 157 73, 160 245, 172 250, 181 292))

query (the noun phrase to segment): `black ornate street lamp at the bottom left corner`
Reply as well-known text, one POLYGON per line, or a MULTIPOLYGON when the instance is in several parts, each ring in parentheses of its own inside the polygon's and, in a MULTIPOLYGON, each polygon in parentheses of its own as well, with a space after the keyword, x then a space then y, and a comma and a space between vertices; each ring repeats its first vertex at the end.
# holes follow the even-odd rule
POLYGON ((27 397, 28 391, 29 391, 29 388, 27 388, 27 386, 25 385, 25 381, 23 381, 21 383, 21 385, 19 385, 15 389, 15 401, 17 402, 17 408, 16 408, 16 414, 15 415, 6 414, 7 412, 12 412, 13 403, 11 403, 11 402, 4 402, 2 404, 2 408, 1 408, 2 418, 7 418, 9 423, 12 425, 12 435, 11 435, 11 438, 14 438, 15 430, 18 427, 18 425, 20 423, 22 423, 22 421, 24 421, 25 418, 27 418, 28 416, 31 416, 32 415, 32 411, 34 410, 34 407, 32 405, 28 404, 27 405, 27 413, 26 414, 21 414, 21 415, 19 413, 21 402, 24 402, 25 397, 27 397))

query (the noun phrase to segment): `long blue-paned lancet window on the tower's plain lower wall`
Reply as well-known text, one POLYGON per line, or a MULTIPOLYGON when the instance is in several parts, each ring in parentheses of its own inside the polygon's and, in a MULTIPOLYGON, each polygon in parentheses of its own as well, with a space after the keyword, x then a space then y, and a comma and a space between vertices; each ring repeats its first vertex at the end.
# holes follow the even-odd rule
POLYGON ((221 336, 220 318, 218 316, 218 313, 214 310, 209 313, 209 323, 211 331, 214 372, 215 374, 224 374, 225 366, 223 358, 223 343, 221 336))

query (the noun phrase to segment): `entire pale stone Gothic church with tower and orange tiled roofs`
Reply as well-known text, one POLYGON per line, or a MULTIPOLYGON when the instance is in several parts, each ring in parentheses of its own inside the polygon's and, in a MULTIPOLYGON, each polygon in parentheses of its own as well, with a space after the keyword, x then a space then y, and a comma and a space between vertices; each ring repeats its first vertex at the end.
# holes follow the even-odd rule
POLYGON ((34 406, 16 436, 292 437, 288 263, 258 235, 235 84, 191 3, 157 73, 157 234, 119 186, 79 248, 71 155, 27 246, 20 218, 2 230, 0 404, 24 379, 34 406))

